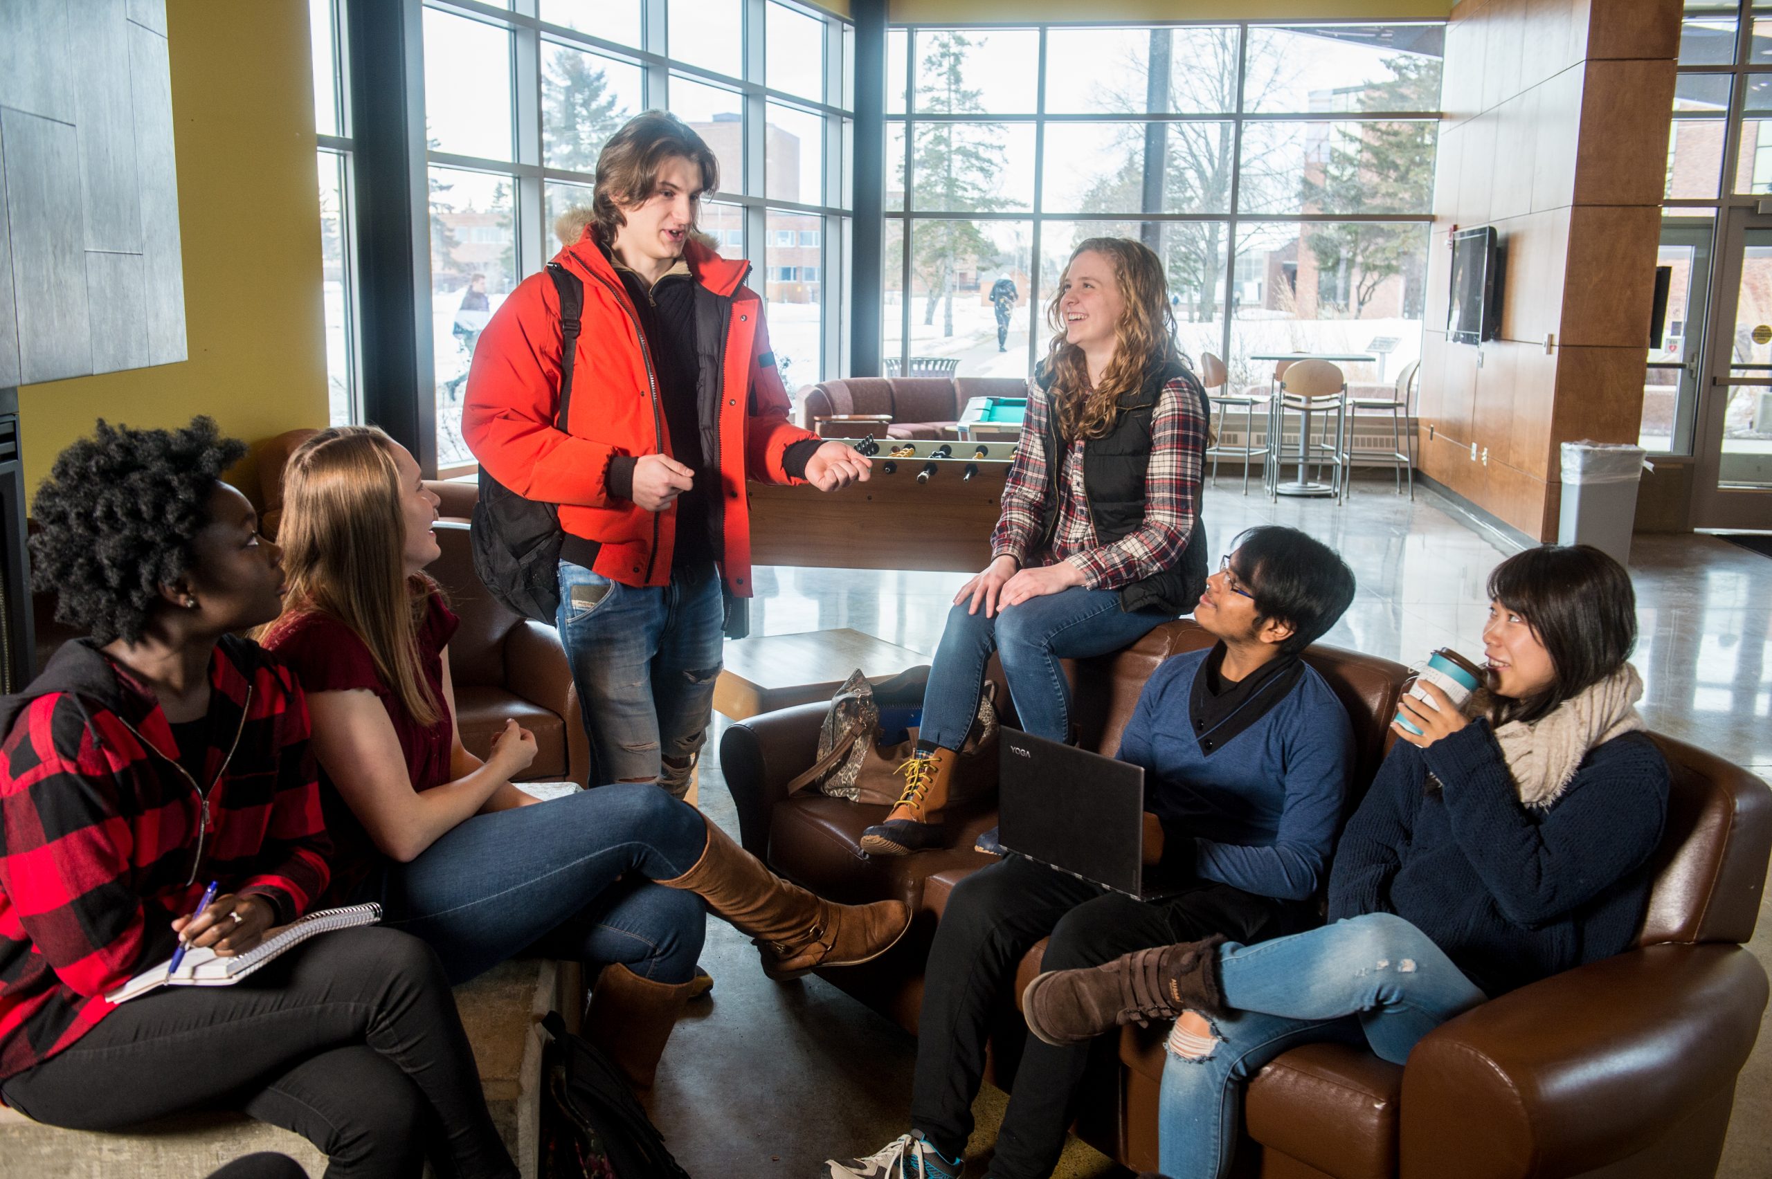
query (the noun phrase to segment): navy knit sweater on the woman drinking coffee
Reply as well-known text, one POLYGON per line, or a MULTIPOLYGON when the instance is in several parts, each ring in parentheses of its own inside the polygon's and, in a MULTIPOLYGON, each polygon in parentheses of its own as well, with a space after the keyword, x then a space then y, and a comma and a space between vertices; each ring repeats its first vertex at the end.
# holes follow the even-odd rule
POLYGON ((1520 804, 1487 720, 1398 742, 1336 846, 1329 921, 1396 913, 1494 998, 1630 947, 1666 814, 1643 733, 1589 749, 1545 811, 1520 804))

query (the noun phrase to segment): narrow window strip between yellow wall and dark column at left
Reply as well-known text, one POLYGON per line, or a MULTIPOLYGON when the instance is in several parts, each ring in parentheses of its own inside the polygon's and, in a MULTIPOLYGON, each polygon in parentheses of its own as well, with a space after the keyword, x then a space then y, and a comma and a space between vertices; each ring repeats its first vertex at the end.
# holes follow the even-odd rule
POLYGON ((321 299, 326 312, 326 416, 363 418, 356 379, 356 250, 351 216, 351 117, 344 51, 346 0, 308 0, 314 50, 314 131, 321 202, 321 299))

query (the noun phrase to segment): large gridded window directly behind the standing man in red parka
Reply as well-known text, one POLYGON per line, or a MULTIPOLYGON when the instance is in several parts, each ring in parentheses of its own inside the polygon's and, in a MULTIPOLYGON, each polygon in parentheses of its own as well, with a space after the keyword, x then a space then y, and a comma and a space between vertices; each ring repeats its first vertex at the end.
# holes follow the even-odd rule
POLYGON ((824 296, 849 274, 842 19, 792 0, 425 0, 424 37, 439 471, 473 462, 461 397, 480 329, 560 248, 555 225, 590 202, 604 143, 645 110, 714 150, 700 228, 755 264, 789 389, 836 374, 845 317, 824 296))

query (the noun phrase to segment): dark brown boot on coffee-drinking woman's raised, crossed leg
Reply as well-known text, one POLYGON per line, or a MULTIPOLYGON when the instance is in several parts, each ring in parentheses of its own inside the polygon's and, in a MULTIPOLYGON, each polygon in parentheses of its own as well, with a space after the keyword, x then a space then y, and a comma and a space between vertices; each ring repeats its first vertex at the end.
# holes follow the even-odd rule
POLYGON ((1028 1030, 1058 1048, 1081 1044, 1122 1023, 1175 1020, 1184 1011, 1224 1014, 1217 982, 1223 933, 1122 954, 1088 970, 1049 970, 1021 993, 1028 1030))

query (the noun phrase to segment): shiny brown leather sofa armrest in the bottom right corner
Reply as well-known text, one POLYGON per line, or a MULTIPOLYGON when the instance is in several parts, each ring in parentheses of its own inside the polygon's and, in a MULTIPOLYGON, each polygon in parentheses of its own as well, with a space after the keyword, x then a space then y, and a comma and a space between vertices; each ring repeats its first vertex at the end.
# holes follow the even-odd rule
POLYGON ((1552 1177, 1628 1158, 1735 1083, 1767 975, 1740 945, 1650 945, 1487 1002, 1403 1069, 1403 1179, 1552 1177))

